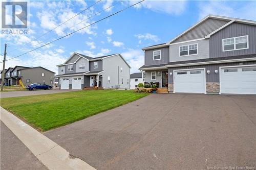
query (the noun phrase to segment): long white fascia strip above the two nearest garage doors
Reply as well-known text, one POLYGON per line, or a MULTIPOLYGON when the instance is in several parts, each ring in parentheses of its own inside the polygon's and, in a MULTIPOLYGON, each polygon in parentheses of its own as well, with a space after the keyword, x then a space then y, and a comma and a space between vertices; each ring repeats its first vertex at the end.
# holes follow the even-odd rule
POLYGON ((181 67, 181 66, 191 66, 191 65, 207 65, 207 64, 220 64, 220 63, 228 63, 228 62, 246 62, 246 61, 256 61, 256 57, 252 58, 240 58, 240 59, 231 59, 231 60, 218 60, 218 61, 205 61, 205 62, 197 62, 197 63, 185 63, 185 64, 175 64, 175 65, 165 65, 165 67, 181 67))

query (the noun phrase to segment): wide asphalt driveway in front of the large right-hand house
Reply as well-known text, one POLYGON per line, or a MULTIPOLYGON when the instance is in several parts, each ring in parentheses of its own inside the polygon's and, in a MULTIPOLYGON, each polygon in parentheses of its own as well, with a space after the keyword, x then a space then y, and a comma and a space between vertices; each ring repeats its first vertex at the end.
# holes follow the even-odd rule
POLYGON ((151 94, 46 136, 97 169, 255 166, 256 96, 151 94))

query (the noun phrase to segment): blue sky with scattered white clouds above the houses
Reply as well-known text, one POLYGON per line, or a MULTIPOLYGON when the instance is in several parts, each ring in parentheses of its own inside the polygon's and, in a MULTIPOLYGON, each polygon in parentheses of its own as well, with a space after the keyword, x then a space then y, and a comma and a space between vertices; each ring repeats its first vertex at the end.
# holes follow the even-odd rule
MULTIPOLYGON (((1 34, 1 61, 5 42, 8 45, 7 59, 10 59, 137 2, 101 0, 70 19, 96 1, 30 1, 28 34, 1 34), (54 29, 68 19, 68 22, 54 29)), ((146 0, 68 37, 9 60, 6 68, 15 65, 42 66, 57 74, 56 65, 64 63, 74 52, 90 57, 120 53, 131 65, 131 73, 138 72, 138 68, 144 64, 141 48, 173 39, 208 14, 256 20, 256 1, 146 0)))

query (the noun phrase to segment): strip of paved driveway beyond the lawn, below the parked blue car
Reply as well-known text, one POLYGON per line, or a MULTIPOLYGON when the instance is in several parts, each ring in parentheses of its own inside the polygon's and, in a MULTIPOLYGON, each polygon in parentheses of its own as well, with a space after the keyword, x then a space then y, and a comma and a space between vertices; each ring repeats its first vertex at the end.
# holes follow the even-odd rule
POLYGON ((52 94, 52 93, 60 93, 60 92, 67 92, 67 91, 75 91, 75 90, 59 90, 59 89, 52 89, 52 90, 35 90, 35 91, 8 91, 8 92, 1 92, 1 98, 13 98, 18 96, 27 96, 27 95, 39 95, 39 94, 52 94))

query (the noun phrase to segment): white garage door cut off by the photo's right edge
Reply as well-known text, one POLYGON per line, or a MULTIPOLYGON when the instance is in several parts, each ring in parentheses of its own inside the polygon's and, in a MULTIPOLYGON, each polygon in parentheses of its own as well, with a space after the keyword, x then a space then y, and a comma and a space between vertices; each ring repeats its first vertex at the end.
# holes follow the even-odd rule
POLYGON ((221 93, 256 94, 256 66, 221 68, 221 93))

